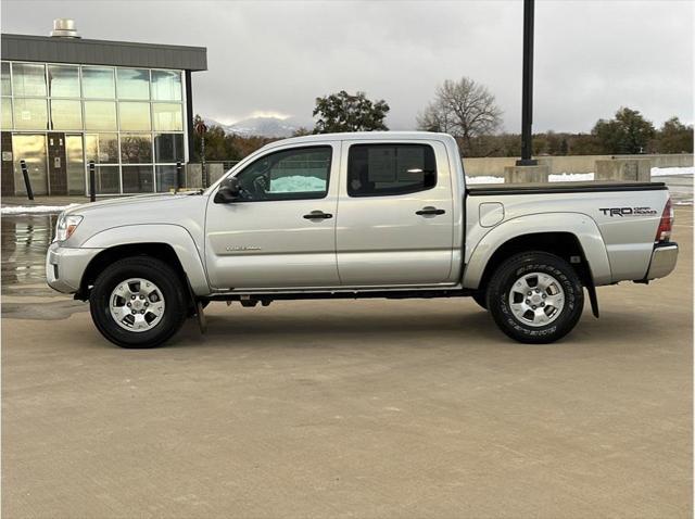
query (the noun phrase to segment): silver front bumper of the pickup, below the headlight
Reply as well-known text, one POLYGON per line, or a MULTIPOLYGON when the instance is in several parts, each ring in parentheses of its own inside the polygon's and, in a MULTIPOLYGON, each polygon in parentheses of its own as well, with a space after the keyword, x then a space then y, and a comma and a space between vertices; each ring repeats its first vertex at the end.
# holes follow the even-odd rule
POLYGON ((49 287, 63 293, 79 290, 87 265, 103 249, 75 249, 51 243, 46 253, 46 279, 49 287))

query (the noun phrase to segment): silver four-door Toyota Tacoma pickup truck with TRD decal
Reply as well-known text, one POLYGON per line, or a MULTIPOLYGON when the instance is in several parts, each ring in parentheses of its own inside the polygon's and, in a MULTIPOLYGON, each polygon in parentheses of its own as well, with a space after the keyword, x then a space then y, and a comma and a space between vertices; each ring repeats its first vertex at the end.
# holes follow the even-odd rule
POLYGON ((125 347, 162 344, 213 301, 338 298, 472 296, 545 343, 572 330, 584 289, 597 317, 596 287, 673 270, 672 224, 664 183, 467 187, 451 136, 317 135, 206 190, 64 212, 46 274, 125 347))

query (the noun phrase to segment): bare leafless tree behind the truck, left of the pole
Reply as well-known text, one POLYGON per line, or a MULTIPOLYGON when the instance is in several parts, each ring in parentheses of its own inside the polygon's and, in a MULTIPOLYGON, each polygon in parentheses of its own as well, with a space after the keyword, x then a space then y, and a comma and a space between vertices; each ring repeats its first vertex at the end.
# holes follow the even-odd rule
POLYGON ((472 140, 494 134, 502 125, 502 110, 484 85, 463 77, 437 87, 434 100, 417 117, 418 128, 444 131, 460 138, 470 152, 472 140))

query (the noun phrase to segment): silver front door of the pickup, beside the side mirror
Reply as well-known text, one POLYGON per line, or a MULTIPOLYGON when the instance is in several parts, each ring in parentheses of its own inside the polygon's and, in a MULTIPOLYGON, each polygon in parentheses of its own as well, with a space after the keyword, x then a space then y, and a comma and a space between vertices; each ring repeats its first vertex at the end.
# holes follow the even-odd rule
POLYGON ((235 176, 232 203, 211 197, 205 262, 218 289, 336 287, 340 144, 268 151, 235 176))

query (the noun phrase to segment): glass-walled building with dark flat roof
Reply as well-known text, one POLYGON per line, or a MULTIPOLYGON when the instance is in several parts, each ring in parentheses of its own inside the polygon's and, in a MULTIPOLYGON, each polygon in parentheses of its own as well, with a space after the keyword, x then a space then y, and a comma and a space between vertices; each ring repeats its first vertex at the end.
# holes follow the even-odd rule
POLYGON ((2 35, 3 194, 168 191, 192 136, 191 72, 204 48, 2 35))

